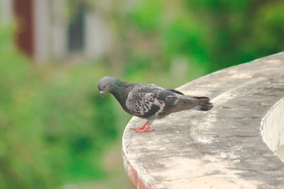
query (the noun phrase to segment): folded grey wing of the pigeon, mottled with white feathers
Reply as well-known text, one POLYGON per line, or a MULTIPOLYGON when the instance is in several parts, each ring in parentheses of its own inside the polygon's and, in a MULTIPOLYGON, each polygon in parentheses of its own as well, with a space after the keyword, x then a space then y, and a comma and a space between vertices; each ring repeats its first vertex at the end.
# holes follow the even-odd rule
POLYGON ((197 99, 182 96, 153 84, 136 85, 129 91, 126 99, 129 113, 141 118, 168 115, 193 108, 195 105, 198 105, 197 99))

